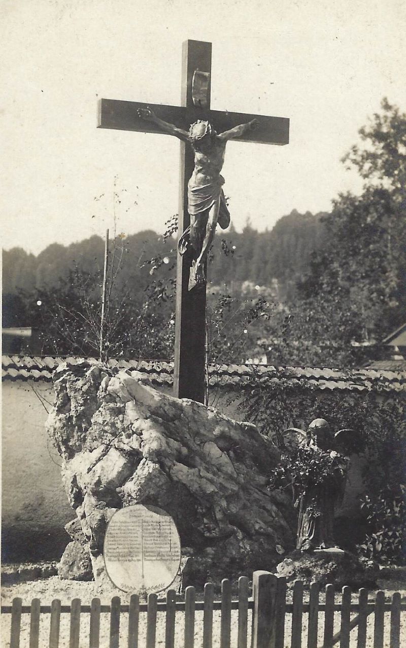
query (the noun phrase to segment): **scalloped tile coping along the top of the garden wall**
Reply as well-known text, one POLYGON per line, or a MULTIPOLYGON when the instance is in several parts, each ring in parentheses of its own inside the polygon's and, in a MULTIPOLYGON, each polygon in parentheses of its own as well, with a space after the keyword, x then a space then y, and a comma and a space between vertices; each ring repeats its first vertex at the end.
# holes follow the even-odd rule
MULTIPOLYGON (((62 362, 78 362, 80 358, 38 356, 2 356, 3 380, 52 381, 52 372, 62 362)), ((83 360, 83 359, 82 359, 83 360)), ((87 358, 95 364, 96 360, 87 358)), ((173 364, 155 360, 109 360, 110 367, 128 369, 142 382, 152 386, 172 386, 173 364)), ((350 391, 406 391, 406 371, 384 369, 321 369, 314 367, 274 367, 273 365, 220 365, 210 367, 210 385, 238 386, 251 382, 253 376, 264 383, 300 384, 306 381, 317 389, 347 389, 350 391)))

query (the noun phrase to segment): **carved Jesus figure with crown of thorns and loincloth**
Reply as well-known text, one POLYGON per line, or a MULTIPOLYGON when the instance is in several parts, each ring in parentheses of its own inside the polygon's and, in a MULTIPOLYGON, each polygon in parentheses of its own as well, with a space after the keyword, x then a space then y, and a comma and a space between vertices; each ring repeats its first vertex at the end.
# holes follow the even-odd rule
POLYGON ((248 130, 255 130, 256 119, 247 124, 234 126, 219 135, 209 121, 198 119, 189 128, 189 132, 159 119, 149 108, 139 108, 139 117, 152 121, 161 130, 187 142, 194 150, 194 170, 188 181, 188 212, 190 227, 179 239, 179 252, 184 254, 192 248, 192 268, 190 269, 189 290, 194 286, 204 286, 205 261, 213 242, 217 224, 225 229, 230 224, 230 213, 225 203, 222 185, 224 178, 220 175, 223 168, 225 145, 233 137, 241 137, 248 130))

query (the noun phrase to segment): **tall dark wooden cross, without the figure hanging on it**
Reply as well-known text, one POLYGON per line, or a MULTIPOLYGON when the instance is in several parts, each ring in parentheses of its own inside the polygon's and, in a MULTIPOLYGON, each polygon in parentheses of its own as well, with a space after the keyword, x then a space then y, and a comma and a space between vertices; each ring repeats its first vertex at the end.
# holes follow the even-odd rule
MULTIPOLYGON (((138 108, 150 108, 164 121, 188 131, 197 119, 207 119, 220 133, 251 119, 258 121, 254 131, 238 139, 244 142, 284 145, 289 143, 289 119, 265 117, 210 109, 210 75, 212 45, 203 41, 183 43, 181 106, 144 104, 134 101, 100 99, 98 128, 115 128, 144 133, 161 133, 159 126, 137 116, 138 108)), ((194 168, 191 146, 181 142, 179 237, 190 224, 187 185, 194 168)), ((177 290, 175 316, 174 393, 178 398, 204 402, 206 291, 188 290, 190 256, 177 259, 177 290)))

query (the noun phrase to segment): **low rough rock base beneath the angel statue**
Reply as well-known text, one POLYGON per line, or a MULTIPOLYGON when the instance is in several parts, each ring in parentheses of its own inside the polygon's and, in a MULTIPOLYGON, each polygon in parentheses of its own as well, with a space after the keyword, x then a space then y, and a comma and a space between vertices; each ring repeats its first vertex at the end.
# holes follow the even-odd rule
POLYGON ((303 581, 305 585, 333 583, 336 590, 344 585, 355 589, 373 587, 379 577, 379 567, 373 561, 360 559, 348 551, 293 551, 276 567, 276 575, 285 576, 288 586, 303 581))

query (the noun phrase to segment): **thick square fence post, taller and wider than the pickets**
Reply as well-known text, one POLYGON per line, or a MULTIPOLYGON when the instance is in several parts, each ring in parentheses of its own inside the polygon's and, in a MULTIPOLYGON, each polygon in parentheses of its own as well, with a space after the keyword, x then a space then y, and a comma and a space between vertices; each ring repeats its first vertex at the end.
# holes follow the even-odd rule
POLYGON ((252 648, 275 648, 275 600, 277 577, 271 572, 253 573, 252 648))

